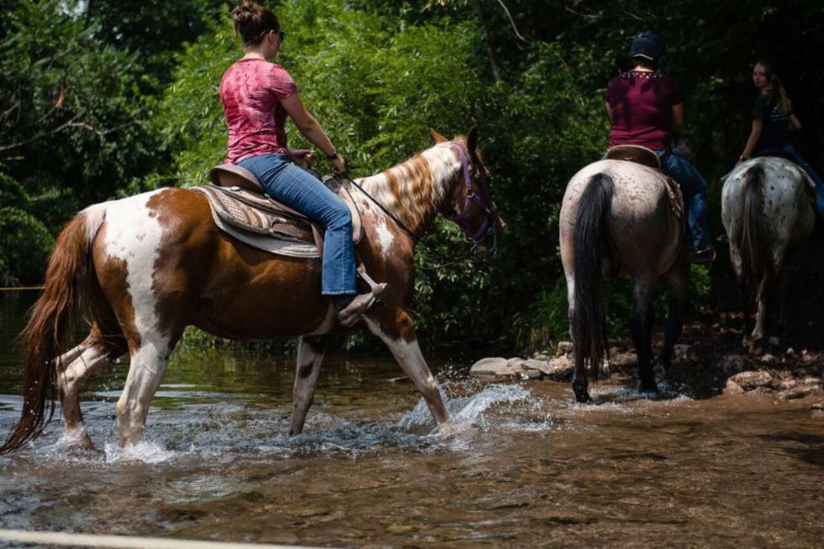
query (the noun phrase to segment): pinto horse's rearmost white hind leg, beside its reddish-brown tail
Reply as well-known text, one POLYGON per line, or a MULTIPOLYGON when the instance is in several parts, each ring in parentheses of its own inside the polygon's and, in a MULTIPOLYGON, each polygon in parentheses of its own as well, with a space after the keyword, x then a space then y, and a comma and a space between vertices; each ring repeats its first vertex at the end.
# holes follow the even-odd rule
POLYGON ((58 375, 57 384, 66 439, 72 444, 91 448, 91 439, 83 426, 80 412, 80 388, 91 374, 108 365, 109 359, 95 347, 78 345, 61 356, 59 364, 63 371, 58 375))

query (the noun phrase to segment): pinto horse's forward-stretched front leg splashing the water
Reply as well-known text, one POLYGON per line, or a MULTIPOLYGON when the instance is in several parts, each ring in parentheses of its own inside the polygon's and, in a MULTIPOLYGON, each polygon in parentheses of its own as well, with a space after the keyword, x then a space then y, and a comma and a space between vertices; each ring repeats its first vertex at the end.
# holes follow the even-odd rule
POLYGON ((424 397, 435 422, 438 425, 446 422, 449 414, 443 405, 438 382, 435 381, 420 351, 410 314, 402 309, 396 310, 394 314, 387 310, 381 319, 364 319, 369 330, 386 343, 401 370, 404 370, 414 387, 424 397))

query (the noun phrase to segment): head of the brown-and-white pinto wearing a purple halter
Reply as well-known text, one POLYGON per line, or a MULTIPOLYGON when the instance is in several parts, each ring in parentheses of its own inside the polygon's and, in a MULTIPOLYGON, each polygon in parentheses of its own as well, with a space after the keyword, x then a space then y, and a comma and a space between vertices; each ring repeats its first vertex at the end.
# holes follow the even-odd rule
POLYGON ((434 129, 430 129, 429 132, 436 143, 451 146, 461 161, 462 184, 455 186, 453 199, 447 203, 448 209, 441 212, 442 215, 455 221, 466 238, 475 246, 494 254, 506 225, 499 216, 498 207, 495 206, 489 191, 489 180, 492 176, 481 160, 477 148, 478 128, 473 126, 469 137, 456 136, 452 141, 434 129))

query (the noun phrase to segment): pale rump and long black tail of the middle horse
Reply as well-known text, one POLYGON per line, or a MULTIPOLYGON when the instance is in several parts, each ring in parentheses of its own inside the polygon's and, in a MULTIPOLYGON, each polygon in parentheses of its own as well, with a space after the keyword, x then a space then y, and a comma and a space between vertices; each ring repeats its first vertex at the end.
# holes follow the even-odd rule
MULTIPOLYGON (((559 218, 567 278, 570 332, 579 365, 597 377, 606 356, 602 269, 654 287, 681 251, 683 219, 672 204, 667 177, 628 161, 597 161, 570 179, 559 218)), ((583 382, 576 398, 587 397, 583 382)))

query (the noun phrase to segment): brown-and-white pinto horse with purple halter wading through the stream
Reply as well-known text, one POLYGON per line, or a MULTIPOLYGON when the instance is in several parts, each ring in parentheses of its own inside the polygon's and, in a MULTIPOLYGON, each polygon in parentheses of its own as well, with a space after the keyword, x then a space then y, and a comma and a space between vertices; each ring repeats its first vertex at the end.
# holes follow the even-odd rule
MULTIPOLYGON (((477 128, 452 141, 432 133, 433 147, 359 179, 363 192, 353 189, 353 198, 365 229, 358 256, 372 278, 388 285, 382 304, 363 323, 386 343, 441 424, 447 411, 409 312, 415 244, 438 213, 456 221, 476 244, 493 248, 503 223, 489 196, 477 128)), ((116 407, 119 444, 138 442, 149 401, 188 325, 241 340, 301 337, 291 435, 303 429, 327 334, 345 330, 321 295, 320 259, 268 254, 223 234, 203 193, 164 188, 96 204, 68 223, 49 260, 43 294, 22 334, 21 419, 0 453, 40 435, 56 398, 67 439, 90 446, 81 385, 126 351, 129 375, 116 407), (69 321, 82 304, 91 333, 63 352, 69 321)))

